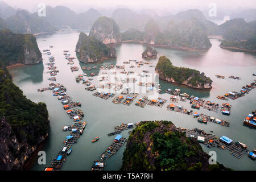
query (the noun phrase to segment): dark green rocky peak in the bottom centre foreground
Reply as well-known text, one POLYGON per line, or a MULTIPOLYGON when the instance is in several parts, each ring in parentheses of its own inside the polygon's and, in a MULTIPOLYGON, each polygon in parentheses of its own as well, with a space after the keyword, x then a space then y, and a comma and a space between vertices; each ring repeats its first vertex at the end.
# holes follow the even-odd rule
POLYGON ((209 155, 195 138, 187 138, 170 121, 140 122, 123 152, 125 171, 224 171, 222 164, 209 164, 209 155))

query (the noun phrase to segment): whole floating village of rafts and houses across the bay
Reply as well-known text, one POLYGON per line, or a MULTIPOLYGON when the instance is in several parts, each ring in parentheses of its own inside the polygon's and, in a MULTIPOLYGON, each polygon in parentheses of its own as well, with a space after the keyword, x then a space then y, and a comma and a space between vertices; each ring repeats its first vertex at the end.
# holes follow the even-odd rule
MULTIPOLYGON (((53 48, 53 46, 50 46, 53 48)), ((80 109, 81 103, 79 101, 73 101, 71 97, 67 94, 67 88, 63 84, 55 83, 57 74, 59 70, 55 66, 55 57, 51 55, 50 49, 44 49, 44 54, 49 55, 46 72, 49 74, 47 80, 49 85, 45 88, 38 89, 38 92, 51 92, 52 96, 56 98, 56 101, 59 101, 63 105, 63 114, 68 115, 68 117, 73 122, 72 125, 64 125, 62 129, 63 132, 67 133, 67 137, 63 139, 63 147, 60 148, 60 151, 53 157, 51 164, 48 165, 44 170, 45 171, 56 171, 60 170, 63 166, 65 160, 68 160, 68 155, 72 154, 72 146, 79 142, 79 138, 82 137, 82 134, 85 132, 86 121, 85 113, 80 109)), ((67 60, 67 65, 70 67, 71 72, 79 72, 80 68, 73 65, 76 57, 72 57, 68 50, 63 51, 65 60, 67 60)), ((101 67, 82 67, 82 71, 90 71, 91 73, 82 73, 78 74, 74 81, 84 84, 84 92, 92 92, 92 96, 98 97, 104 100, 112 100, 113 104, 123 104, 126 106, 135 105, 139 107, 160 107, 162 109, 167 109, 171 112, 178 112, 181 114, 187 114, 190 117, 195 118, 195 122, 200 122, 207 125, 208 122, 216 123, 218 125, 229 127, 232 125, 232 121, 226 121, 225 119, 216 118, 212 115, 204 114, 205 110, 208 110, 213 113, 221 113, 228 117, 232 114, 232 105, 229 104, 229 100, 237 100, 240 97, 246 97, 246 94, 249 94, 251 90, 256 88, 256 80, 250 82, 246 85, 241 86, 241 90, 230 91, 224 93, 223 95, 216 96, 218 100, 222 100, 220 103, 213 101, 207 101, 203 98, 196 96, 190 96, 187 93, 182 92, 181 89, 166 89, 162 90, 161 85, 156 82, 150 81, 141 81, 139 78, 148 78, 151 75, 148 74, 146 67, 154 67, 151 63, 147 61, 138 61, 138 60, 126 60, 123 61, 124 65, 104 65, 101 67), (129 68, 141 68, 142 73, 134 73, 134 71, 127 71, 125 65, 129 64, 129 68), (100 69, 101 72, 97 73, 93 70, 100 69), (109 79, 107 71, 110 71, 110 75, 113 75, 114 79, 109 79), (124 77, 120 76, 123 75, 124 77), (120 76, 120 77, 118 77, 120 76), (129 76, 129 77, 127 77, 129 76), (97 77, 97 78, 96 78, 97 77), (96 84, 94 81, 98 81, 99 84, 96 84), (139 88, 144 89, 146 94, 153 92, 159 93, 168 93, 170 98, 167 100, 165 98, 155 97, 150 98, 150 96, 141 96, 139 92, 134 92, 133 88, 130 88, 129 84, 135 84, 139 88), (117 92, 119 91, 119 92, 117 92), (190 108, 185 108, 182 106, 182 103, 189 102, 190 108)), ((216 75, 217 78, 225 79, 225 76, 216 75)), ((234 80, 240 80, 240 77, 229 76, 234 80)), ((154 95, 153 95, 154 97, 154 95)), ((126 107, 125 106, 125 107, 126 107)), ((256 127, 256 110, 253 110, 251 113, 245 113, 245 119, 241 121, 244 125, 249 127, 256 127), (246 115, 247 114, 247 115, 246 115)), ((88 124, 88 122, 87 122, 88 124)), ((106 165, 106 160, 113 156, 119 148, 125 145, 127 138, 122 137, 122 132, 125 130, 134 129, 139 123, 120 123, 119 126, 113 126, 113 132, 107 134, 106 137, 113 137, 113 142, 109 144, 109 147, 105 151, 100 151, 98 159, 95 159, 92 164, 92 171, 101 171, 106 165)), ((243 155, 249 156, 251 159, 256 158, 256 149, 250 146, 247 147, 246 144, 230 139, 225 135, 216 136, 212 133, 205 133, 202 129, 184 129, 179 127, 179 130, 189 138, 196 138, 198 142, 205 144, 207 147, 218 147, 222 150, 228 150, 231 155, 240 159, 243 155), (250 148, 250 149, 249 149, 250 148)), ((100 137, 96 137, 92 140, 93 143, 97 145, 97 141, 100 140, 100 137)))

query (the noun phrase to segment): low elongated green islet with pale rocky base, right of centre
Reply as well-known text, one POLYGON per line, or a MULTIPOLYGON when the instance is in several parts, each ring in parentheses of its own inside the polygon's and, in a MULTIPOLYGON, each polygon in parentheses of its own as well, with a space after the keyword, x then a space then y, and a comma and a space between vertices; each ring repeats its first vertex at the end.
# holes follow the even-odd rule
POLYGON ((196 89, 212 89, 212 80, 195 69, 174 67, 170 59, 160 56, 155 67, 159 78, 196 89))

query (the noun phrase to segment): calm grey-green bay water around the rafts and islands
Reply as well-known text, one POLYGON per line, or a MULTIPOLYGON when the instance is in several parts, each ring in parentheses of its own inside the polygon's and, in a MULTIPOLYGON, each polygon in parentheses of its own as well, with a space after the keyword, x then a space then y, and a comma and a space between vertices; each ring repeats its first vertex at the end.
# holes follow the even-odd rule
MULTIPOLYGON (((146 105, 144 108, 135 106, 134 103, 130 106, 115 105, 112 103, 113 98, 109 100, 102 100, 92 96, 94 92, 86 91, 85 85, 81 82, 75 81, 75 76, 80 73, 84 73, 82 69, 79 72, 71 72, 67 60, 64 59, 63 50, 70 51, 72 56, 75 56, 75 47, 77 40, 79 39, 79 32, 77 31, 65 31, 59 32, 53 35, 44 35, 37 38, 40 51, 49 48, 49 45, 54 47, 51 49, 52 56, 55 56, 55 65, 60 70, 56 76, 57 81, 64 84, 67 88, 67 93, 73 98, 74 101, 80 101, 81 109, 85 113, 85 121, 87 122, 86 130, 80 137, 77 144, 73 144, 72 154, 67 157, 62 170, 90 170, 94 160, 98 159, 98 156, 106 150, 106 148, 112 143, 115 136, 108 137, 108 133, 114 131, 114 126, 121 123, 137 123, 139 121, 149 120, 168 120, 175 123, 177 127, 186 127, 193 129, 194 127, 201 128, 206 132, 213 131, 217 137, 226 135, 227 137, 238 140, 249 146, 249 150, 256 147, 255 129, 243 126, 243 119, 252 110, 256 109, 256 90, 252 90, 245 97, 238 98, 237 100, 229 100, 229 104, 232 105, 232 113, 230 116, 225 116, 220 113, 214 113, 203 108, 200 109, 200 113, 211 115, 216 118, 226 119, 230 122, 230 127, 224 127, 217 125, 216 123, 207 123, 207 125, 197 122, 197 120, 189 115, 168 111, 166 109, 167 104, 170 104, 170 95, 167 93, 161 94, 160 97, 168 100, 162 108, 146 105), (100 140, 96 143, 92 143, 92 139, 100 137, 100 140)), ((177 86, 164 81, 160 81, 162 89, 175 89, 180 88, 182 92, 193 94, 194 96, 204 98, 205 100, 224 103, 222 100, 217 100, 216 96, 223 95, 229 91, 240 91, 243 85, 252 82, 256 77, 252 76, 256 71, 256 57, 246 55, 241 52, 230 52, 219 47, 220 42, 216 39, 211 39, 212 48, 206 52, 181 52, 170 49, 155 48, 158 51, 157 59, 150 60, 152 64, 156 64, 159 56, 165 55, 170 58, 172 63, 177 67, 188 67, 197 69, 200 72, 204 72, 213 80, 213 89, 210 91, 195 90, 187 88, 185 86, 177 86), (218 79, 215 75, 224 75, 225 79, 218 79), (228 76, 234 75, 241 77, 241 80, 233 80, 228 76)), ((106 64, 119 64, 123 65, 123 61, 129 59, 142 60, 141 54, 146 47, 141 44, 122 44, 117 49, 116 60, 106 60, 103 63, 92 64, 100 65, 106 64)), ((63 105, 52 96, 50 91, 39 93, 37 89, 48 86, 49 81, 47 78, 48 71, 46 63, 48 62, 48 56, 43 55, 43 63, 36 65, 26 65, 22 67, 10 68, 9 71, 13 75, 13 81, 23 93, 34 102, 45 102, 49 111, 50 133, 49 138, 44 145, 43 149, 46 151, 47 164, 39 165, 37 159, 34 160, 32 170, 42 170, 45 166, 49 166, 53 156, 57 155, 57 152, 63 147, 63 140, 67 136, 67 133, 62 131, 64 125, 72 125, 73 121, 68 118, 63 110, 63 105)), ((79 63, 76 59, 75 64, 79 67, 85 66, 83 63, 79 63)), ((87 65, 89 66, 89 65, 87 65)), ((129 64, 127 65, 129 67, 129 64)), ((147 69, 150 72, 154 72, 154 68, 149 68, 148 65, 144 65, 141 68, 136 68, 135 71, 141 73, 142 69, 147 69)), ((129 70, 129 69, 127 69, 129 70)), ((98 71, 99 72, 99 71, 98 71)), ((100 71, 105 72, 105 71, 100 71)), ((119 72, 119 71, 117 71, 119 72)), ((96 78, 94 77, 94 80, 96 78)), ((140 97, 140 96, 139 96, 140 97)), ((138 98, 139 98, 138 97, 138 98)), ((137 100, 135 100, 137 101, 137 100)), ((179 105, 184 106, 187 109, 191 109, 189 102, 179 102, 179 105)), ((128 137, 127 131, 123 131, 122 135, 128 137)), ((220 150, 217 147, 207 148, 202 145, 205 152, 214 150, 217 152, 217 161, 224 164, 226 167, 230 167, 237 170, 255 170, 255 161, 250 160, 246 155, 241 159, 237 159, 229 154, 229 151, 220 150)), ((118 170, 122 166, 122 156, 125 146, 113 155, 106 162, 105 170, 118 170)))

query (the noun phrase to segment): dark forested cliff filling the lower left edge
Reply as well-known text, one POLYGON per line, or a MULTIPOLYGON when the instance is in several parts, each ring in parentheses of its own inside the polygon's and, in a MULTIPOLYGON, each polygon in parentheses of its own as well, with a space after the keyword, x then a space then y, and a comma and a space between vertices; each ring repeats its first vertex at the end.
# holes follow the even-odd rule
POLYGON ((1 60, 0 98, 0 170, 22 170, 48 136, 48 111, 44 103, 23 96, 1 60))

